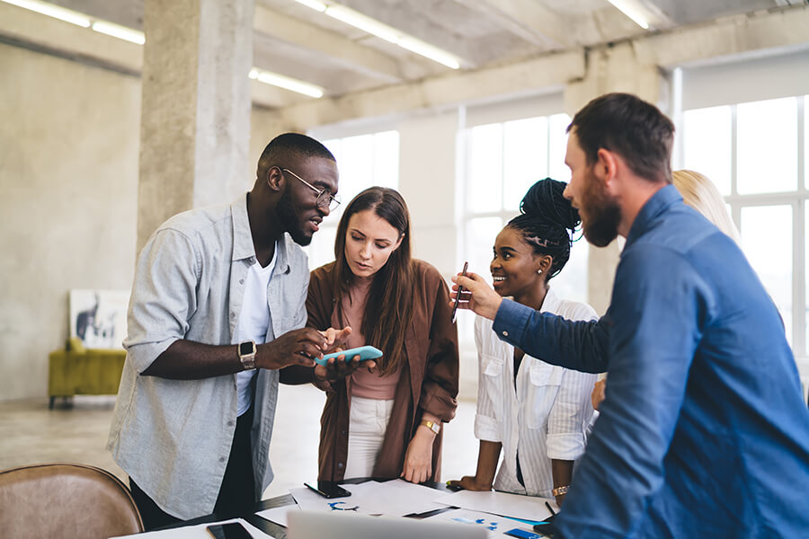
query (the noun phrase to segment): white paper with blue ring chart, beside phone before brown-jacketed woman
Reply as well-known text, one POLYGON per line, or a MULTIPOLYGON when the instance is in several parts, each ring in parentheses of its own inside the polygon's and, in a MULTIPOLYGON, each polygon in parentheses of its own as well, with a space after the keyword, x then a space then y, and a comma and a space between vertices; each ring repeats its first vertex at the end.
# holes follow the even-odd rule
POLYGON ((401 479, 342 487, 350 491, 351 496, 325 499, 309 489, 290 489, 289 493, 305 511, 353 511, 361 515, 404 517, 445 507, 433 501, 436 490, 401 479))

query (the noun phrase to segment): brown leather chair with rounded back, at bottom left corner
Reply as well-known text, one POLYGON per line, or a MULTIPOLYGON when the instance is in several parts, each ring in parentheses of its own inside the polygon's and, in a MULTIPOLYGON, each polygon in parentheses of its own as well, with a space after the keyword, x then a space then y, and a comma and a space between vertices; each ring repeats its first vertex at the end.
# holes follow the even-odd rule
POLYGON ((143 531, 117 477, 85 464, 32 464, 0 472, 0 535, 106 539, 143 531))

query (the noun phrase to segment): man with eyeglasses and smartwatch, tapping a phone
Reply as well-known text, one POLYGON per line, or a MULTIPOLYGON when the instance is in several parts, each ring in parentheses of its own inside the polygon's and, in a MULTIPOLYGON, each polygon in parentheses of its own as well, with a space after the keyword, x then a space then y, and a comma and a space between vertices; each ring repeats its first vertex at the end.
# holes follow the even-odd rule
POLYGON ((300 248, 339 204, 337 180, 325 146, 280 135, 253 190, 173 216, 140 252, 108 448, 147 529, 236 513, 270 484, 279 369, 314 367, 344 333, 304 327, 300 248))

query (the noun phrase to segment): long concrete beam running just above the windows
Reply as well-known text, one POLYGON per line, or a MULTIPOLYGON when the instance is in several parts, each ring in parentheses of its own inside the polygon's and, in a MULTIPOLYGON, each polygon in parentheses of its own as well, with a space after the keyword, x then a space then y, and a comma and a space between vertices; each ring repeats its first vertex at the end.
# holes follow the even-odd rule
MULTIPOLYGON (((634 49, 638 63, 673 67, 716 57, 805 48, 809 46, 807 35, 809 6, 793 6, 664 31, 628 43, 634 49)), ((520 92, 542 92, 582 79, 587 69, 585 57, 583 50, 548 54, 507 66, 441 75, 413 84, 300 103, 275 113, 287 125, 307 129, 520 92)))

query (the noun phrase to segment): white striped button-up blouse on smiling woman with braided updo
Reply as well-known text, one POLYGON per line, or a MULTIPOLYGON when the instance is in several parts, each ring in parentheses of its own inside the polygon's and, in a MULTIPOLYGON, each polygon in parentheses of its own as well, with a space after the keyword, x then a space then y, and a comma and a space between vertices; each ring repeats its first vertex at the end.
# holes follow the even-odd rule
MULTIPOLYGON (((541 313, 567 320, 593 320, 590 305, 560 300, 548 289, 541 313)), ((501 442, 503 459, 494 489, 552 498, 551 459, 576 460, 584 453, 590 395, 598 375, 549 365, 528 354, 514 384, 514 347, 498 339, 493 322, 477 317, 477 413, 475 436, 501 442), (517 452, 525 487, 517 481, 517 452)))

